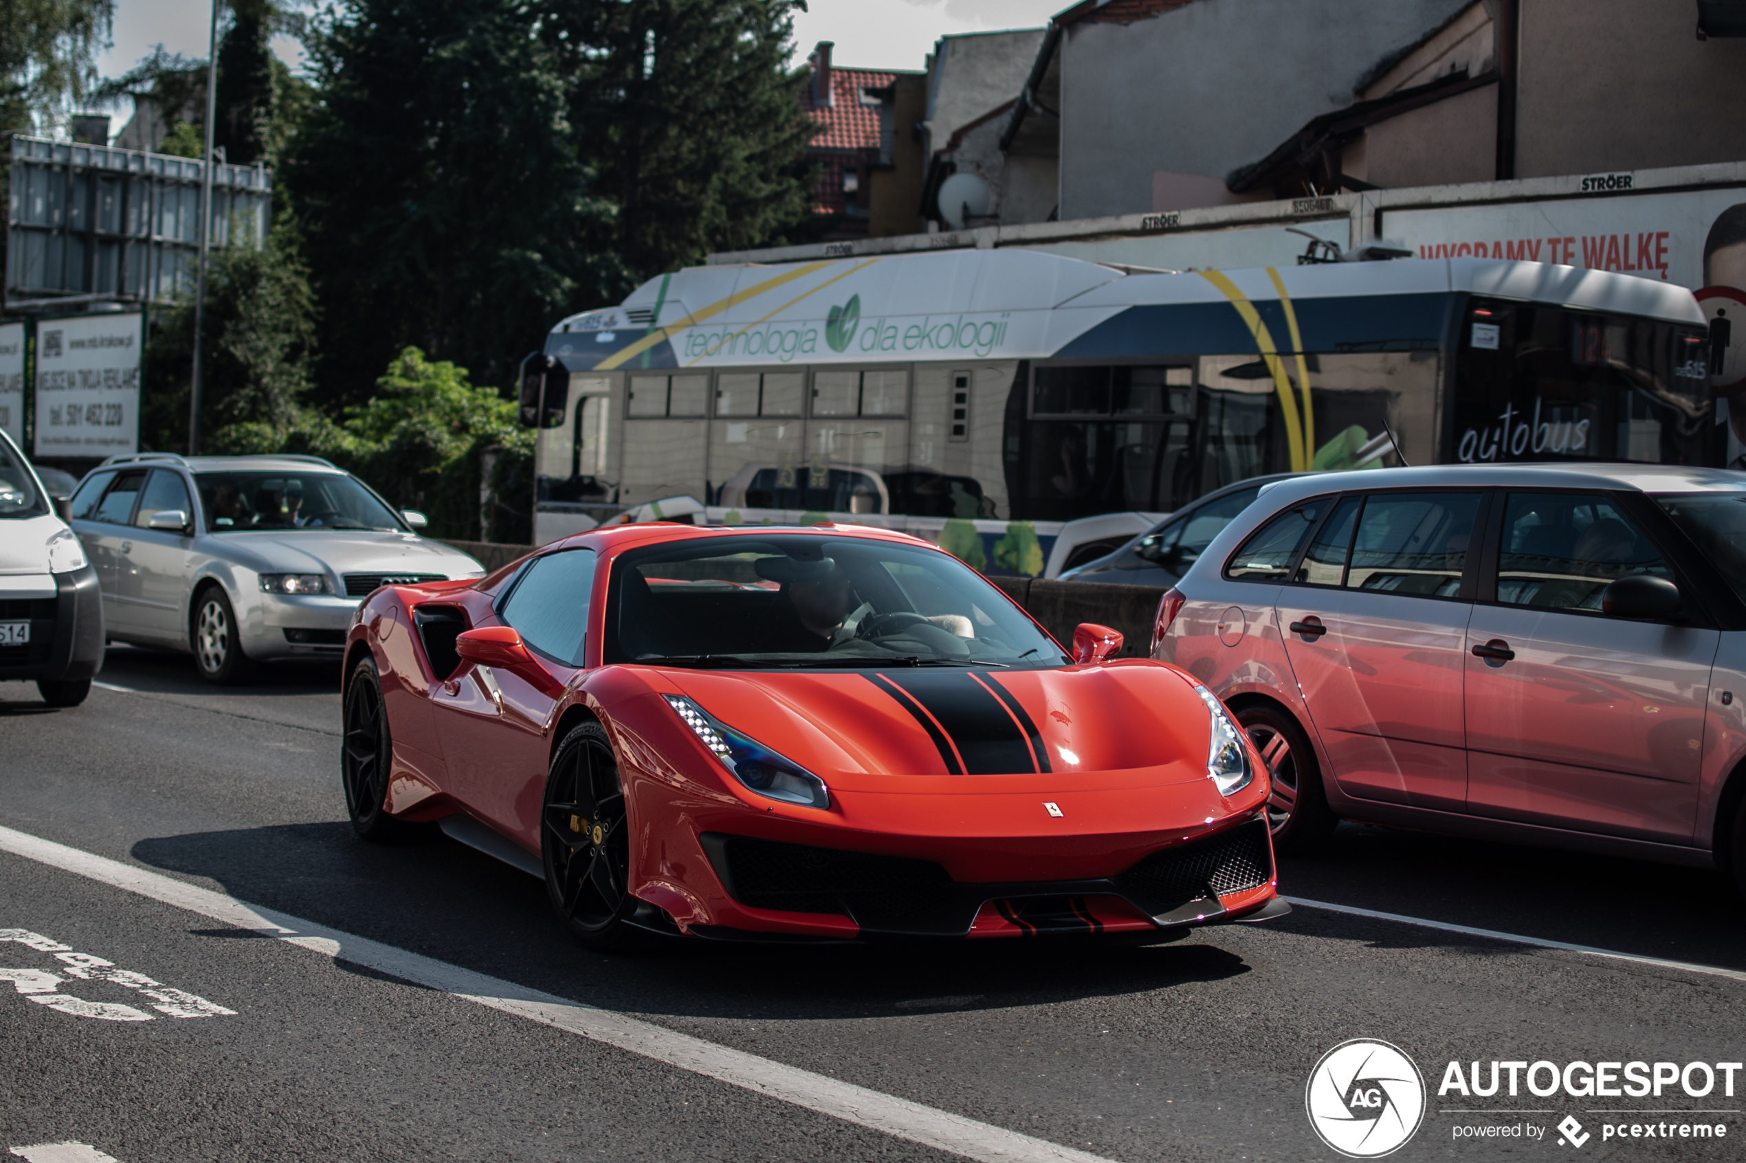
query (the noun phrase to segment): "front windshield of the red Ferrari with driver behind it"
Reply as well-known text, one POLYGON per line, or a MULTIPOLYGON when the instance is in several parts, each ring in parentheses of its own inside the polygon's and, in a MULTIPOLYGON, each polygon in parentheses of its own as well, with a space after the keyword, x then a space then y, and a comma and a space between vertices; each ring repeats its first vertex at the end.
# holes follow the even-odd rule
POLYGON ((953 556, 861 537, 698 537, 613 568, 606 661, 697 668, 1062 666, 953 556))

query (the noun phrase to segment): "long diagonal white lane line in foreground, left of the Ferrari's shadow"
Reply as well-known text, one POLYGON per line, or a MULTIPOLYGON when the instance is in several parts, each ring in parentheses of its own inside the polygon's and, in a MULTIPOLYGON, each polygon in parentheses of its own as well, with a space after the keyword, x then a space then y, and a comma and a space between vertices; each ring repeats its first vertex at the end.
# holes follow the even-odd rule
POLYGON ((223 893, 12 828, 0 828, 0 851, 978 1163, 1110 1163, 1086 1151, 730 1050, 653 1022, 526 989, 271 908, 258 908, 223 893))

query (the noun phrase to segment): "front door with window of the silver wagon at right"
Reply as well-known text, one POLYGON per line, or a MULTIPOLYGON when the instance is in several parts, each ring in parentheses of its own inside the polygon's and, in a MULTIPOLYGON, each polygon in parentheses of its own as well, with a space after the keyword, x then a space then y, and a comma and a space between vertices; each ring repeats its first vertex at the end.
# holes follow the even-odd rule
POLYGON ((1467 631, 1468 811, 1688 844, 1720 633, 1601 612, 1617 577, 1674 572, 1610 493, 1502 499, 1467 631))

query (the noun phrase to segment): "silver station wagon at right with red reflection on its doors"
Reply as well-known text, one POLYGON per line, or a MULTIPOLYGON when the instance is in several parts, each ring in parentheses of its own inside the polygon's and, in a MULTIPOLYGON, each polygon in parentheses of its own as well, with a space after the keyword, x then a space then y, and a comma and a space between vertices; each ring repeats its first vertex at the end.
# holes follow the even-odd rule
POLYGON ((1282 481, 1165 595, 1152 656, 1243 722, 1285 851, 1346 818, 1746 882, 1746 473, 1282 481))

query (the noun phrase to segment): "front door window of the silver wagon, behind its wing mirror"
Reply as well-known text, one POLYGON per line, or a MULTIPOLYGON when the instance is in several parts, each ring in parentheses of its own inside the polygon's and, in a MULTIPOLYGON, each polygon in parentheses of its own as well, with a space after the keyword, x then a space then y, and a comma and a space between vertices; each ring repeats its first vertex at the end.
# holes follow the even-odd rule
POLYGON ((1498 546, 1498 602, 1601 612, 1601 591, 1631 574, 1673 579, 1655 546, 1601 493, 1510 493, 1498 546))

